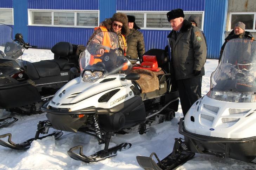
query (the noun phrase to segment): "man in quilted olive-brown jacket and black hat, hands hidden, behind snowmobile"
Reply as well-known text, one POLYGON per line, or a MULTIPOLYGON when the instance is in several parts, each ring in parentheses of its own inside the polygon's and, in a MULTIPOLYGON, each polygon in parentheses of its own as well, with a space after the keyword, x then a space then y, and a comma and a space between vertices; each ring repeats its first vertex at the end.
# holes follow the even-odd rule
POLYGON ((143 34, 138 30, 140 28, 135 23, 135 17, 132 15, 127 15, 127 17, 130 34, 126 37, 126 55, 131 56, 132 59, 142 58, 142 55, 145 53, 143 34))

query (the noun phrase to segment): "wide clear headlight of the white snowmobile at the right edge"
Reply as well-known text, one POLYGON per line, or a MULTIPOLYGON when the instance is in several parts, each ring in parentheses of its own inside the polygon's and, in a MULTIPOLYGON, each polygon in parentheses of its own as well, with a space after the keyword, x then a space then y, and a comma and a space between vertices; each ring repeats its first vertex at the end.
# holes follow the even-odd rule
POLYGON ((221 101, 256 102, 256 95, 254 94, 211 90, 206 95, 212 99, 221 100, 221 101))

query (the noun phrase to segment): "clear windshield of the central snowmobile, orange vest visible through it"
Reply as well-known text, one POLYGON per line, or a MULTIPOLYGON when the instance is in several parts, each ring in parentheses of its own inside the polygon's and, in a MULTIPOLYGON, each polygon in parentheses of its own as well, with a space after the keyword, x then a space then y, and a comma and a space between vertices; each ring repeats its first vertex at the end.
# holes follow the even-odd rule
POLYGON ((100 32, 80 55, 80 71, 85 82, 96 82, 114 74, 127 74, 132 64, 118 48, 119 38, 113 32, 100 32))

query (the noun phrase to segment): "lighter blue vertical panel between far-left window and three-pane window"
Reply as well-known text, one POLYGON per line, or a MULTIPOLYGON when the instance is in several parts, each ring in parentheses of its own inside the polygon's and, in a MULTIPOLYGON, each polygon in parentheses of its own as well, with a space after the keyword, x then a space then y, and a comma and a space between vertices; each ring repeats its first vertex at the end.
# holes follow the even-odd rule
POLYGON ((21 33, 25 42, 28 40, 27 4, 27 0, 13 0, 13 36, 21 33))

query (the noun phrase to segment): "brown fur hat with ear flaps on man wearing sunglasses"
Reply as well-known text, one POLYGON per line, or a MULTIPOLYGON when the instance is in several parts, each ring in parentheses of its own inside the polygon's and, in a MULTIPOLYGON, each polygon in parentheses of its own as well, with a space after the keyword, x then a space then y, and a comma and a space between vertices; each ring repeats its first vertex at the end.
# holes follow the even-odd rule
POLYGON ((130 30, 129 30, 129 27, 128 27, 128 18, 127 16, 124 14, 124 13, 115 13, 112 18, 110 19, 105 19, 102 23, 103 25, 107 28, 107 30, 111 30, 111 24, 113 21, 118 21, 118 22, 121 22, 123 24, 123 27, 121 29, 121 33, 123 35, 128 35, 130 30))

